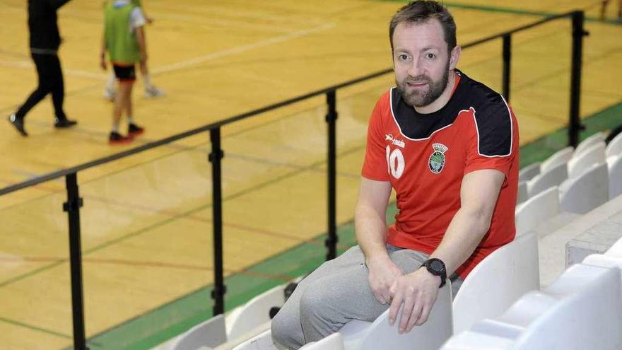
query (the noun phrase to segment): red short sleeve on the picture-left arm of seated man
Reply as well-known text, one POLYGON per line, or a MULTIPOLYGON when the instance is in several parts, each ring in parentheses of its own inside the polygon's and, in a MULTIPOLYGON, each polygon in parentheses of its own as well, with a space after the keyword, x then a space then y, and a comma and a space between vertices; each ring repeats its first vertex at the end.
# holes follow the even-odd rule
POLYGON ((365 161, 361 175, 370 180, 389 181, 387 150, 382 132, 382 115, 389 108, 388 98, 389 94, 385 93, 377 101, 368 125, 365 161))

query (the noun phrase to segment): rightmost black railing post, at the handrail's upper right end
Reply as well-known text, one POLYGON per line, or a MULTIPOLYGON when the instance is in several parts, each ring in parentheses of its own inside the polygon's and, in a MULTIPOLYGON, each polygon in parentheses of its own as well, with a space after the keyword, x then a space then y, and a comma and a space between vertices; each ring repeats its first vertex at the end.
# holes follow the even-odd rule
POLYGON ((573 147, 579 144, 579 133, 584 129, 580 119, 583 37, 587 35, 583 29, 584 22, 583 11, 573 12, 573 62, 570 71, 570 122, 568 123, 568 146, 573 147))

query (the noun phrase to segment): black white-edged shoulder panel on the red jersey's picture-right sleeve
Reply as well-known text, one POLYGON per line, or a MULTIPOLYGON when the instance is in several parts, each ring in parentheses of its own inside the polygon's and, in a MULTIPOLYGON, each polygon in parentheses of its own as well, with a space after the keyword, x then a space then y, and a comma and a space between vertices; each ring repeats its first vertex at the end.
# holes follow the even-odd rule
POLYGON ((479 154, 509 156, 512 152, 512 116, 505 100, 487 86, 471 80, 479 154))

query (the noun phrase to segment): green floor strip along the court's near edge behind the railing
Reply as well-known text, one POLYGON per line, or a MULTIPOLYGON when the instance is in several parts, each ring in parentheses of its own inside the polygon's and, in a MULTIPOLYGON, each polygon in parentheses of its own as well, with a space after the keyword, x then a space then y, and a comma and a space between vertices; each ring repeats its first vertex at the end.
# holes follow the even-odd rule
MULTIPOLYGON (((613 129, 622 123, 622 103, 611 105, 592 117, 583 119, 583 122, 587 125, 587 129, 581 133, 580 139, 585 139, 594 132, 613 129)), ((558 149, 564 148, 568 140, 567 137, 567 129, 562 128, 522 146, 521 166, 542 161, 558 149)), ((397 214, 397 208, 392 204, 387 210, 387 222, 392 222, 395 214, 397 214)), ((341 246, 356 244, 352 222, 341 225, 338 228, 338 235, 341 246)), ((324 238, 325 235, 322 234, 314 240, 316 243, 323 243, 324 238)), ((343 251, 343 249, 339 249, 339 253, 343 251)), ((254 264, 245 271, 301 276, 322 264, 325 254, 326 250, 321 244, 303 243, 263 262, 254 264)), ((259 293, 282 283, 281 280, 266 277, 242 274, 229 276, 225 279, 225 285, 228 288, 225 294, 226 310, 242 305, 259 293)), ((213 305, 210 293, 211 286, 204 286, 187 296, 97 334, 89 339, 90 348, 94 350, 151 349, 153 346, 181 334, 193 325, 209 319, 212 316, 211 307, 213 305)), ((86 322, 88 323, 88 320, 86 322)))

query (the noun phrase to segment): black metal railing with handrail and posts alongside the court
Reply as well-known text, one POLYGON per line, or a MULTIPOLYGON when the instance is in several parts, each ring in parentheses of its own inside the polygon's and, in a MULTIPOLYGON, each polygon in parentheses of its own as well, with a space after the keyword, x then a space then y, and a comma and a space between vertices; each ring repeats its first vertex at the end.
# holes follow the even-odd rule
MULTIPOLYGON (((568 124, 568 145, 577 146, 579 139, 579 132, 584 127, 580 123, 579 107, 580 107, 580 86, 581 86, 581 66, 582 66, 582 38, 587 35, 584 30, 585 14, 583 11, 573 11, 568 13, 562 13, 556 16, 550 16, 543 18, 541 21, 530 23, 529 25, 523 25, 522 27, 508 30, 507 32, 491 35, 475 42, 470 42, 467 45, 463 45, 463 48, 475 47, 481 45, 484 42, 496 40, 502 38, 503 45, 503 95, 506 100, 510 100, 510 71, 512 62, 512 50, 511 40, 512 35, 522 30, 533 28, 536 25, 541 25, 550 21, 554 21, 561 18, 572 18, 572 66, 570 69, 571 83, 570 83, 570 117, 568 124)), ((178 141, 180 139, 187 138, 196 134, 209 132, 211 140, 211 153, 209 154, 209 161, 212 167, 212 209, 213 209, 213 259, 214 259, 214 285, 211 293, 214 299, 213 314, 224 313, 225 303, 224 296, 226 293, 226 287, 223 280, 223 234, 222 234, 222 185, 221 185, 221 159, 224 156, 221 148, 221 127, 238 122, 243 119, 254 117, 264 112, 276 110, 286 105, 298 103, 302 100, 307 100, 319 95, 326 95, 327 98, 327 142, 328 142, 328 166, 327 166, 327 182, 328 182, 328 222, 327 222, 327 238, 325 245, 327 247, 327 259, 336 257, 336 243, 338 237, 336 234, 336 91, 340 88, 352 86, 363 81, 368 81, 378 76, 392 73, 393 69, 385 69, 377 71, 360 78, 353 79, 340 83, 336 86, 324 88, 319 91, 300 95, 289 100, 285 100, 281 103, 275 103, 273 105, 267 105, 265 107, 245 112, 240 115, 223 119, 219 122, 204 125, 203 127, 197 127, 196 129, 182 132, 165 139, 153 141, 142 146, 131 148, 127 151, 115 153, 111 156, 106 156, 95 161, 90 161, 77 165, 73 168, 66 168, 58 170, 54 173, 35 177, 32 180, 20 182, 16 185, 11 185, 0 189, 0 196, 11 192, 16 192, 20 189, 33 187, 49 180, 54 180, 60 177, 66 178, 66 192, 67 202, 63 204, 63 210, 67 212, 69 218, 69 247, 70 247, 70 261, 71 261, 71 301, 73 310, 73 327, 74 327, 74 349, 84 350, 88 349, 86 346, 86 336, 84 327, 84 311, 83 311, 83 284, 82 284, 82 253, 81 253, 81 228, 80 228, 80 208, 83 206, 83 200, 78 192, 78 172, 93 168, 98 165, 117 161, 118 159, 125 158, 127 156, 134 155, 143 151, 150 150, 165 144, 178 141)))

